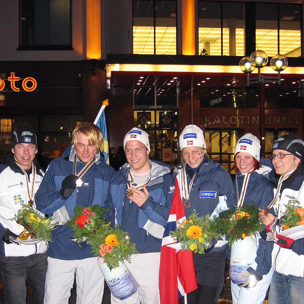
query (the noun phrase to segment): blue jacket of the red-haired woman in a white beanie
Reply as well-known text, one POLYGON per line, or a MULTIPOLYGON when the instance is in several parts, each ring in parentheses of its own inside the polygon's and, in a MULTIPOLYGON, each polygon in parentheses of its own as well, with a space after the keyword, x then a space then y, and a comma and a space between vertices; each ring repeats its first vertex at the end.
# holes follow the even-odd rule
MULTIPOLYGON (((260 169, 255 170, 250 174, 243 206, 248 203, 253 203, 256 207, 259 207, 260 209, 267 208, 267 206, 273 199, 273 189, 275 187, 275 184, 273 184, 271 181, 268 180, 268 178, 263 175, 265 172, 268 171, 268 167, 262 166, 260 169)), ((240 195, 244 182, 244 175, 242 175, 240 172, 237 173, 236 179, 233 182, 235 187, 235 206, 237 206, 236 182, 240 195)), ((255 258, 257 266, 253 267, 256 268, 257 273, 261 276, 267 274, 271 268, 271 251, 272 244, 260 238, 257 248, 257 257, 255 258)), ((227 254, 229 254, 228 251, 227 254)))

